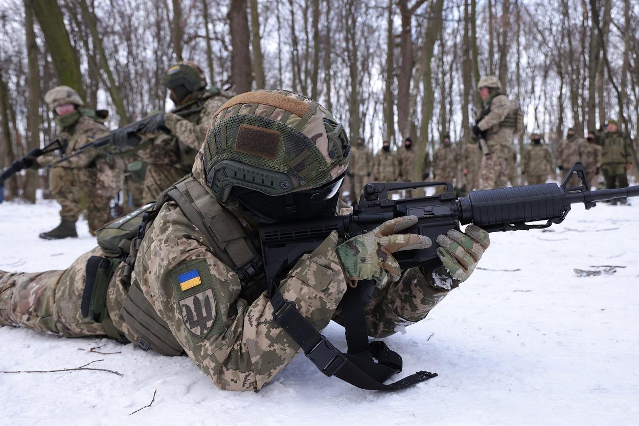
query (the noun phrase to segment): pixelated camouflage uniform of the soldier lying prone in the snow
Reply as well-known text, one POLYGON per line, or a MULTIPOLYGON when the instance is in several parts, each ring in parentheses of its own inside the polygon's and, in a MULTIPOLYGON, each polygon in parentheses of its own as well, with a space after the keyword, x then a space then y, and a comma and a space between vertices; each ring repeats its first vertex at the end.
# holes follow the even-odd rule
MULTIPOLYGON (((300 99, 307 102, 305 98, 300 99)), ((240 109, 250 110, 250 104, 242 104, 240 109)), ((237 110, 222 110, 217 118, 223 119, 225 112, 233 114, 237 110)), ((275 120, 284 116, 283 110, 262 106, 255 113, 275 120)), ((286 120, 295 123, 300 116, 288 116, 286 120)), ((313 126, 317 127, 309 129, 311 133, 314 129, 323 129, 322 123, 313 126)), ((326 148, 326 136, 321 133, 318 136, 318 147, 326 148)), ((214 145, 217 143, 213 142, 214 145)), ((211 155, 211 146, 202 146, 192 173, 212 195, 206 186, 203 161, 211 155)), ((217 145, 217 149, 222 147, 217 145)), ((253 235, 254 230, 238 212, 235 198, 229 198, 220 206, 240 221, 248 235, 253 235)), ((213 255, 205 239, 176 203, 168 201, 142 240, 132 283, 139 283, 144 296, 168 324, 187 355, 213 383, 226 390, 259 390, 286 367, 298 354, 299 347, 272 322, 273 309, 266 293, 250 303, 238 297, 242 286, 238 276, 213 255), (210 330, 203 336, 196 335, 186 326, 180 304, 184 290, 176 278, 177 274, 194 267, 206 294, 215 301, 213 319, 207 323, 210 330)), ((310 255, 302 256, 279 286, 282 295, 294 301, 298 311, 316 329, 325 327, 332 318, 339 320, 340 316, 336 308, 347 283, 335 251, 337 244, 337 233, 333 232, 310 255)), ((459 244, 456 248, 461 249, 459 244)), ((104 335, 106 331, 102 325, 83 319, 79 313, 86 261, 89 256, 100 253, 96 248, 82 255, 66 271, 0 272, 0 325, 25 326, 70 337, 104 335)), ((128 340, 137 343, 139 336, 119 315, 127 293, 121 285, 122 274, 123 265, 120 265, 109 285, 109 318, 128 340)), ((461 276, 461 272, 455 271, 453 277, 456 276, 461 276)), ((449 290, 450 283, 438 284, 432 277, 427 279, 419 269, 405 271, 401 280, 374 290, 373 299, 366 306, 369 334, 391 335, 396 333, 398 326, 423 319, 449 290)), ((201 327, 196 331, 201 331, 201 327)))

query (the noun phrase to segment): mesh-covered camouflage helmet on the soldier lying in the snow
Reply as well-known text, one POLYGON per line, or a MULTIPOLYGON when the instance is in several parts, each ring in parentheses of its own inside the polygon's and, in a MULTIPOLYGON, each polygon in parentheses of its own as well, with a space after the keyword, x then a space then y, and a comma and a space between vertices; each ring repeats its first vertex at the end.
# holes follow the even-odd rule
POLYGON ((206 185, 226 201, 233 187, 277 196, 341 180, 350 145, 342 125, 317 102, 258 90, 213 114, 201 154, 206 185))

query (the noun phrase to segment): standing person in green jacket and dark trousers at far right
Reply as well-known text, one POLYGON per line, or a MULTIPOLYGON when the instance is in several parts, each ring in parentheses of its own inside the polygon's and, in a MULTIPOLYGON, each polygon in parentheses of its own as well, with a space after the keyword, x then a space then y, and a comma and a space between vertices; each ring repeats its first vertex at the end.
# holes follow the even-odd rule
MULTIPOLYGON (((607 132, 597 134, 596 143, 601 145, 601 173, 606 180, 606 188, 623 188, 628 185, 626 170, 630 170, 630 140, 617 129, 617 120, 608 120, 607 132)), ((626 198, 619 203, 626 204, 626 198)), ((613 204, 616 202, 613 201, 613 204)))

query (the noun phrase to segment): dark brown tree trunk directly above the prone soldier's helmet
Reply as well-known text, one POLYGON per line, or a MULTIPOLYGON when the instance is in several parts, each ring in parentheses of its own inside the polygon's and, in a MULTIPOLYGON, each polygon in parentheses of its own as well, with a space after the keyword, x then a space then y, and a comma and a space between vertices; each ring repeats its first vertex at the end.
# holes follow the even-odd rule
POLYGON ((231 81, 237 93, 250 91, 252 85, 246 8, 246 0, 231 0, 227 14, 231 31, 231 81))

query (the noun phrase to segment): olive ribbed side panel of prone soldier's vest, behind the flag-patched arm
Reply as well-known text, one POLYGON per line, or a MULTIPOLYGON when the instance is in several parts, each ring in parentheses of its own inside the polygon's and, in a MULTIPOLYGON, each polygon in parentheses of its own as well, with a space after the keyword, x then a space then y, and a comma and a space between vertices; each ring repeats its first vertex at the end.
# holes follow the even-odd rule
POLYGON ((134 281, 129 288, 120 315, 139 338, 137 345, 144 351, 151 348, 166 356, 182 354, 183 349, 171 333, 169 325, 155 312, 155 308, 146 299, 137 281, 134 281))

